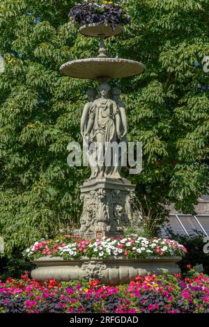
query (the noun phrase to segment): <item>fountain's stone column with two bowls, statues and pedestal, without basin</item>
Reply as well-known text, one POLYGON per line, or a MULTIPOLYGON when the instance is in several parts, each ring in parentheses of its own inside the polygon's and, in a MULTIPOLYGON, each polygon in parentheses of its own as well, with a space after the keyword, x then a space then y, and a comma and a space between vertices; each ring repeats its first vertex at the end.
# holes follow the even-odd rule
MULTIPOLYGON (((106 154, 113 143, 127 143, 127 118, 125 104, 119 99, 121 90, 112 88, 111 79, 130 77, 144 72, 142 63, 123 58, 109 58, 104 39, 123 33, 123 26, 112 24, 90 24, 79 29, 88 37, 100 38, 98 57, 69 61, 61 65, 61 72, 69 77, 95 79, 100 83, 99 97, 94 90, 88 90, 89 102, 84 106, 81 120, 81 134, 89 138, 89 143, 100 143, 102 154, 106 154)), ((79 234, 89 237, 120 236, 123 227, 132 221, 131 202, 134 185, 121 178, 121 166, 116 157, 109 164, 92 164, 99 161, 98 150, 89 156, 91 177, 81 186, 84 209, 80 220, 79 234), (114 161, 115 159, 115 161, 114 161), (114 164, 114 162, 116 164, 114 164)))

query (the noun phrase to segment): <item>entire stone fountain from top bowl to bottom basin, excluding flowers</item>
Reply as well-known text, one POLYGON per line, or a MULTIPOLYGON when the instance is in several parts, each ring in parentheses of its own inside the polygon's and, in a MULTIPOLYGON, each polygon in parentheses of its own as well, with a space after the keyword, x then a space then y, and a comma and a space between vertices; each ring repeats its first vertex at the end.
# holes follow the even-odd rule
MULTIPOLYGON (((63 74, 78 79, 94 79, 99 82, 97 90, 88 90, 88 103, 85 104, 81 119, 81 134, 89 144, 100 143, 100 152, 92 147, 88 152, 91 176, 81 186, 83 212, 80 228, 82 237, 118 237, 123 235, 125 225, 132 222, 132 202, 134 185, 121 177, 123 153, 116 161, 111 154, 109 162, 100 161, 100 153, 106 154, 108 146, 121 141, 127 143, 127 118, 125 104, 119 99, 121 90, 109 86, 111 79, 132 77, 145 71, 142 63, 123 58, 109 58, 104 40, 123 33, 123 26, 112 24, 90 24, 82 26, 79 33, 88 37, 100 38, 99 54, 95 58, 78 59, 61 65, 63 74), (114 27, 114 28, 113 28, 114 27), (102 149, 102 150, 101 150, 102 149), (117 164, 114 164, 117 163, 117 164)), ((111 152, 109 152, 111 153, 111 152)), ((99 279, 106 285, 117 285, 133 280, 137 275, 160 273, 158 269, 168 269, 178 273, 176 262, 181 257, 150 259, 129 259, 109 257, 95 259, 79 257, 63 260, 61 257, 42 257, 36 260, 36 269, 31 276, 37 280, 56 278, 57 280, 99 279)))

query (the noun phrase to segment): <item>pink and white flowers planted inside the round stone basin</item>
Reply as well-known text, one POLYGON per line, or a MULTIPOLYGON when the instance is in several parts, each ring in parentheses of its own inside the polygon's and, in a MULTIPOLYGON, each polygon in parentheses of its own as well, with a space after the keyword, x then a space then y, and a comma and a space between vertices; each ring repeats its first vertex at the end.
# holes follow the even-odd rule
POLYGON ((82 239, 78 235, 59 235, 54 239, 42 239, 25 251, 26 257, 36 260, 47 255, 71 260, 77 257, 107 259, 108 257, 130 257, 134 259, 162 256, 183 256, 186 248, 171 239, 144 237, 102 237, 82 239))

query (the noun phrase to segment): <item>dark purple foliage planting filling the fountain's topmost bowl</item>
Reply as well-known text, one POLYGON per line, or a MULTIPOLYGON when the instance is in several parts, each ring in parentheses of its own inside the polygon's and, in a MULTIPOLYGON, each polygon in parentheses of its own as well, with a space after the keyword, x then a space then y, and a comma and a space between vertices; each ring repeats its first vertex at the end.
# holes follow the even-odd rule
POLYGON ((112 1, 84 1, 74 6, 68 17, 70 25, 130 24, 130 16, 118 3, 112 1))

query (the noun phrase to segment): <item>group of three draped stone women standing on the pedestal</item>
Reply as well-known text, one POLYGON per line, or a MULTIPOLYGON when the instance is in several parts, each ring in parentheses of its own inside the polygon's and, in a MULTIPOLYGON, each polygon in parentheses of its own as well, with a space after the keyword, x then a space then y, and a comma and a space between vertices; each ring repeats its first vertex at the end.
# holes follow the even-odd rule
POLYGON ((121 178, 123 147, 127 143, 127 117, 125 105, 119 99, 121 90, 101 83, 100 97, 95 99, 96 90, 87 91, 81 119, 81 134, 88 140, 88 161, 91 177, 121 178))

